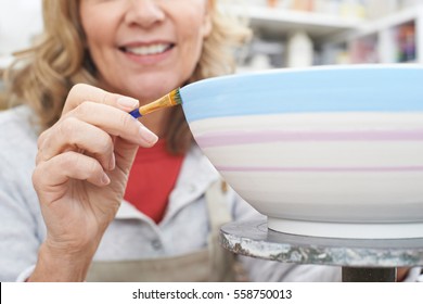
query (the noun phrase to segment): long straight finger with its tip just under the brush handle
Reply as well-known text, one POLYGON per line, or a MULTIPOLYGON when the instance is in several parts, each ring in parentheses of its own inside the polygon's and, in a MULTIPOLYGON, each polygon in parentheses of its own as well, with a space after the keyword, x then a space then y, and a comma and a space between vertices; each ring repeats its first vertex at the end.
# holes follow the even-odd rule
POLYGON ((87 101, 68 112, 62 119, 70 116, 145 148, 152 147, 158 140, 157 136, 139 121, 113 106, 87 101))

